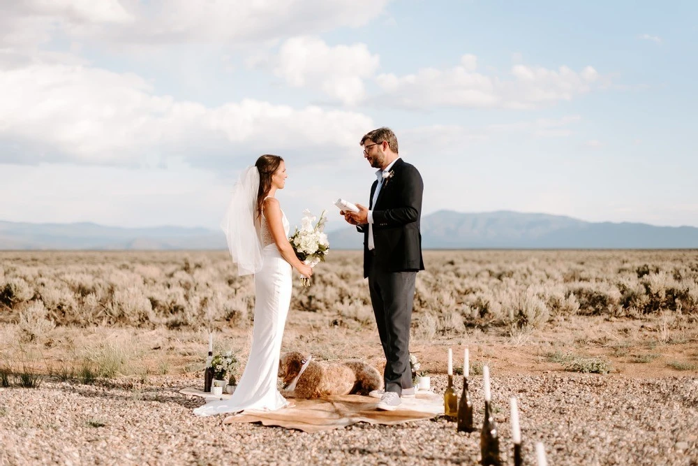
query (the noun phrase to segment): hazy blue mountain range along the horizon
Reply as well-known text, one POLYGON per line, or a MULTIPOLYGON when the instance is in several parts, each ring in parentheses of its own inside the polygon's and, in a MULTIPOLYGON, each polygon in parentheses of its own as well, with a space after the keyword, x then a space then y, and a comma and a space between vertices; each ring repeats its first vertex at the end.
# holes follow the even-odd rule
MULTIPOLYGON (((328 232, 332 249, 361 249, 355 228, 328 232)), ((698 228, 594 223, 521 212, 440 210, 422 218, 424 249, 692 249, 698 228)), ((116 228, 91 223, 0 221, 0 249, 225 249, 223 233, 206 228, 116 228)))

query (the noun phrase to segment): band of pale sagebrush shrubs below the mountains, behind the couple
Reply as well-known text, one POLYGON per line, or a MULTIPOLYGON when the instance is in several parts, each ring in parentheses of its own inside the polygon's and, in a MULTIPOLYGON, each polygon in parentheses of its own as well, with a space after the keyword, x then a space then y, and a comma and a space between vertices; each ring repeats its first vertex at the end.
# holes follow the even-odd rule
MULTIPOLYGON (((4 315, 13 321, 33 301, 43 303, 56 325, 198 328, 247 326, 253 318, 253 278, 238 277, 224 251, 0 257, 0 309, 12 307, 4 315)), ((425 251, 424 261, 415 289, 416 333, 425 315, 438 333, 461 328, 454 313, 468 326, 507 330, 518 322, 521 330, 546 320, 544 309, 550 316, 698 312, 698 252, 425 251)), ((332 251, 309 289, 295 283, 291 310, 334 318, 338 306, 366 320, 358 311, 370 308, 360 252, 332 251)))

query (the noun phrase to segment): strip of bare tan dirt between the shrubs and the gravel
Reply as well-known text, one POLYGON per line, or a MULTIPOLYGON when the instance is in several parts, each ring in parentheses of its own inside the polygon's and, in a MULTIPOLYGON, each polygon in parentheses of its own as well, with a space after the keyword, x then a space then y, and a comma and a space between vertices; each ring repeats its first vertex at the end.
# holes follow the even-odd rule
MULTIPOLYGON (((492 374, 565 372, 565 357, 602 358, 610 364, 610 373, 604 377, 698 374, 698 323, 672 319, 669 323, 660 316, 644 320, 573 316, 518 339, 507 328, 469 328, 462 335, 438 335, 430 341, 413 337, 410 351, 427 374, 447 372, 447 348, 453 349, 456 371, 461 370, 466 346, 471 367, 487 363, 492 374)), ((215 335, 216 351, 234 350, 243 363, 242 370, 250 328, 223 328, 215 335)), ((19 362, 9 358, 12 347, 29 355, 31 365, 50 367, 54 372, 61 366, 77 367, 86 355, 98 358, 101 351, 102 358, 120 359, 119 374, 138 377, 167 373, 199 377, 208 341, 203 331, 164 328, 59 327, 41 344, 19 344, 11 342, 11 326, 5 326, 3 336, 7 338, 3 357, 10 365, 19 362), (112 354, 105 355, 105 348, 112 354)), ((308 312, 290 313, 282 351, 302 351, 326 360, 362 358, 379 370, 384 364, 376 330, 370 326, 334 326, 327 316, 308 312)))

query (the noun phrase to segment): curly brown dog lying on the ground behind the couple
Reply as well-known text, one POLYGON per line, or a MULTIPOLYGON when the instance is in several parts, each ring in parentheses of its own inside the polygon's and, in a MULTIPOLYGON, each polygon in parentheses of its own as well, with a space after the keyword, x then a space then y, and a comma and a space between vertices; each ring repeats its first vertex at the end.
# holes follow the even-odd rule
MULTIPOLYGON (((285 353, 279 361, 279 377, 287 387, 306 362, 298 351, 285 353)), ((383 387, 383 377, 371 365, 362 361, 315 361, 308 364, 296 382, 295 391, 282 391, 290 398, 321 398, 329 395, 368 395, 383 387)))

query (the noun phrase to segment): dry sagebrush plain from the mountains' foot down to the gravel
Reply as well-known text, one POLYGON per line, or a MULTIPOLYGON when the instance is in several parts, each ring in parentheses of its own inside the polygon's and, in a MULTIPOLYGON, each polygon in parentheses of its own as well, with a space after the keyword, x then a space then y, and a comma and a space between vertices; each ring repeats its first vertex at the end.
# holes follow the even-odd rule
MULTIPOLYGON (((295 286, 284 351, 380 361, 366 351, 380 345, 361 262, 333 251, 311 287, 295 286)), ((464 344, 480 348, 480 367, 506 367, 500 351, 536 363, 564 351, 694 370, 667 361, 698 341, 697 251, 429 251, 425 262, 412 344, 427 371, 445 369, 430 351, 441 361, 443 347, 464 344)), ((225 252, 0 252, 0 367, 83 383, 193 373, 209 328, 217 351, 245 361, 253 306, 252 277, 225 252)))

